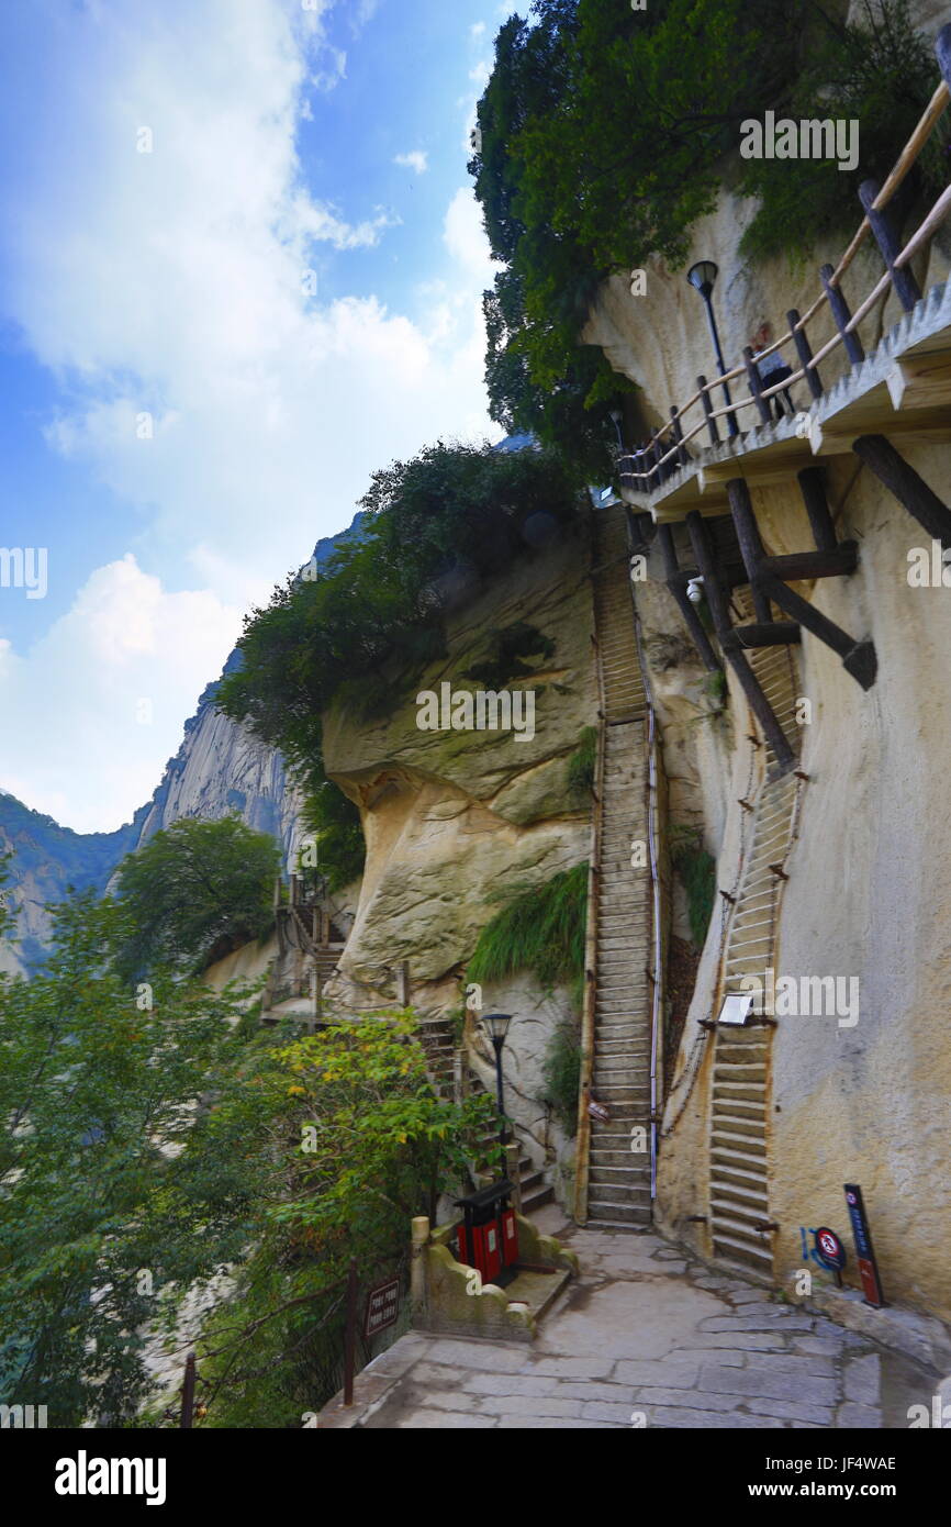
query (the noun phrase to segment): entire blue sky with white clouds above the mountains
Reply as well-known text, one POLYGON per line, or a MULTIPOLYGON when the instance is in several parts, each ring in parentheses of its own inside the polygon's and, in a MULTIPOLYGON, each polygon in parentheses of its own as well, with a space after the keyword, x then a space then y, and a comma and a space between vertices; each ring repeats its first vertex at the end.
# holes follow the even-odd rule
POLYGON ((0 786, 148 799, 243 612, 429 440, 498 440, 466 174, 493 0, 0 8, 0 786), (9 582, 9 577, 8 577, 9 582))

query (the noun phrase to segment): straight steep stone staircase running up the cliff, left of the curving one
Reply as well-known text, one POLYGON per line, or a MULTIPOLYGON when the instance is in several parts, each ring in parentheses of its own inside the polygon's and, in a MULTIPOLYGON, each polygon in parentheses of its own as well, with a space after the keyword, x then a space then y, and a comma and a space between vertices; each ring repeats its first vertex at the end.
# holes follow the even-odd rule
POLYGON ((650 1223, 650 870, 632 867, 647 841, 647 719, 635 640, 623 510, 595 515, 594 614, 600 654, 603 783, 591 1096, 588 1219, 623 1229, 650 1223))

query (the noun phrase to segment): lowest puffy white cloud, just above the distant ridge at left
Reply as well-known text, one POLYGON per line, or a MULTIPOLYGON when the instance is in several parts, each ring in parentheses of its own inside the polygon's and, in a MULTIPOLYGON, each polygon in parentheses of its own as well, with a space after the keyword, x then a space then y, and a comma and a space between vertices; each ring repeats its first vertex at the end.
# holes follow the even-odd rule
POLYGON ((237 608, 165 591, 131 554, 96 568, 29 658, 0 643, 0 709, 17 719, 3 788, 79 832, 128 822, 238 634, 237 608))

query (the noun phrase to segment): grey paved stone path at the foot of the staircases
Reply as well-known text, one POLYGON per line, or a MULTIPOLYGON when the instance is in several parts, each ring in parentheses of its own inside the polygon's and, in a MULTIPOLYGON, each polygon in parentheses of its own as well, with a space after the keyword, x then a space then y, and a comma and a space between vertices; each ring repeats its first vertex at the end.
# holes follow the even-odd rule
POLYGON ((354 1409, 331 1402, 319 1425, 881 1428, 930 1403, 927 1370, 658 1235, 557 1234, 582 1277, 533 1344, 412 1332, 357 1377, 354 1409))

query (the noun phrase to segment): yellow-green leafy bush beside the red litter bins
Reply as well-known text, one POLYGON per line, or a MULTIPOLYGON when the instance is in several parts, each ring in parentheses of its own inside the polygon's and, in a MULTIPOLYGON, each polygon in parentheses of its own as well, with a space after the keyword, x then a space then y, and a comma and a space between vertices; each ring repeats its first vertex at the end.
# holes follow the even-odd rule
POLYGON ((215 1428, 299 1426, 330 1399, 350 1258, 365 1284, 398 1267, 411 1217, 435 1217, 440 1190, 461 1190, 495 1122, 487 1095, 434 1096, 408 1012, 325 1028, 256 1060, 255 1087, 238 1078, 189 1153, 195 1165, 235 1153, 266 1162, 253 1254, 198 1347, 215 1428))

